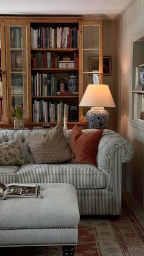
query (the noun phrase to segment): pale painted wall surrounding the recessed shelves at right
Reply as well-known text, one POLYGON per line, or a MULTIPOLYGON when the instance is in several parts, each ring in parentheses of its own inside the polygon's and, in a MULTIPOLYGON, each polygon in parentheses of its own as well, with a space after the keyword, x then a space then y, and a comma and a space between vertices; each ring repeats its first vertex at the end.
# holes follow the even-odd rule
POLYGON ((130 121, 132 116, 132 38, 142 34, 143 24, 143 0, 135 0, 116 21, 116 117, 118 133, 126 137, 134 148, 134 157, 126 165, 126 186, 144 208, 144 127, 130 121))

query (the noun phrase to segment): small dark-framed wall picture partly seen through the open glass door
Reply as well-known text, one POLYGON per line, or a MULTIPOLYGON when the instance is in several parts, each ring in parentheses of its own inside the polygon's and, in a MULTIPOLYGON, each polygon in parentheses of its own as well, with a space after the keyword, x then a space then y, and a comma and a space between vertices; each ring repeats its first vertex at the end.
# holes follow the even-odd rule
MULTIPOLYGON (((99 73, 99 57, 90 57, 90 72, 99 73)), ((112 57, 103 57, 103 75, 111 75, 112 72, 112 57)), ((92 76, 93 74, 90 74, 92 76)))

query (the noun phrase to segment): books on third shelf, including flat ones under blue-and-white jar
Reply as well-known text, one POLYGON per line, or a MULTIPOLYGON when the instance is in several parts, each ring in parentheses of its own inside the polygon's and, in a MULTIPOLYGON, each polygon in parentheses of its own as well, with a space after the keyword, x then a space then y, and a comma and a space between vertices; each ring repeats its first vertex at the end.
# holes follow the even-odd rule
POLYGON ((78 92, 59 92, 59 81, 57 75, 37 73, 31 76, 32 96, 57 96, 78 95, 78 92))

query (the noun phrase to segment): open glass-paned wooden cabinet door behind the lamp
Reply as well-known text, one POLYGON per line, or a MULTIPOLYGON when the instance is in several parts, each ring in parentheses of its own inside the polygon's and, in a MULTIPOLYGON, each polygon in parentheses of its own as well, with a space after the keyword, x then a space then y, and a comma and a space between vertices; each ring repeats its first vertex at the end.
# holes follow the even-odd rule
MULTIPOLYGON (((82 21, 79 27, 79 102, 88 84, 102 83, 103 78, 103 22, 82 21), (94 80, 96 77, 96 82, 94 80)), ((79 120, 85 122, 90 108, 79 108, 79 120)))

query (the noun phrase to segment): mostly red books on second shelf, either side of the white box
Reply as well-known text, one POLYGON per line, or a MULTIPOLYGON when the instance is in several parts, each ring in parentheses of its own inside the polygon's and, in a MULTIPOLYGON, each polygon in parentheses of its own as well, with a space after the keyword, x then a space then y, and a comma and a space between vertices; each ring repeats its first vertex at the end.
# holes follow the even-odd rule
MULTIPOLYGON (((73 54, 74 66, 73 68, 78 68, 79 59, 78 54, 73 54)), ((60 68, 60 56, 57 53, 49 52, 38 52, 31 54, 31 64, 32 68, 60 68)))

